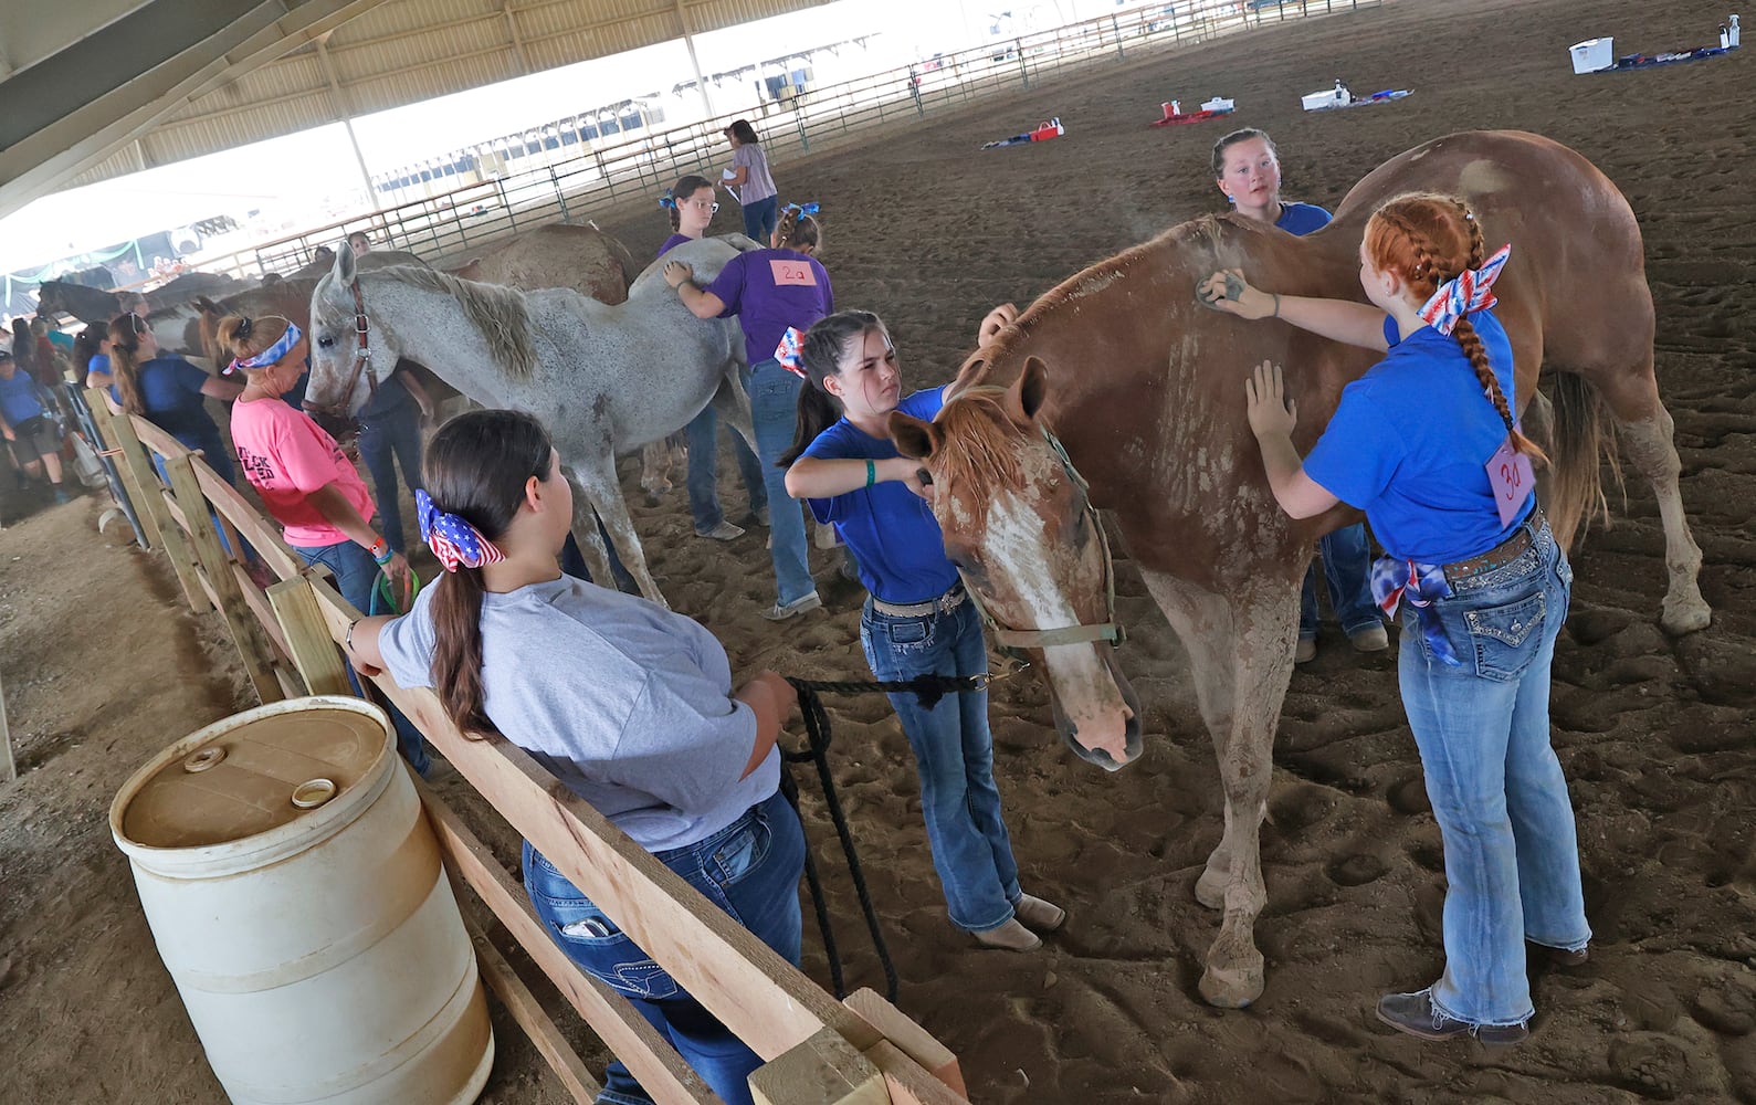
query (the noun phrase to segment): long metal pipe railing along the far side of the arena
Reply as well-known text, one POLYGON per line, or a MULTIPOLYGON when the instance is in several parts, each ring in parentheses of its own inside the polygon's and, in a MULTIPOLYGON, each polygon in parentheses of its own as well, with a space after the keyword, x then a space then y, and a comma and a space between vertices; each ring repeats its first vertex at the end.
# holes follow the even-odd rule
MULTIPOLYGON (((365 230, 383 248, 407 249, 441 264, 464 264, 472 249, 551 221, 583 223, 639 197, 658 195, 685 172, 725 160, 725 125, 750 118, 771 158, 808 155, 869 141, 871 132, 925 119, 994 93, 1034 84, 1140 51, 1194 46, 1270 23, 1380 7, 1384 0, 1245 0, 1148 5, 1043 32, 996 39, 792 95, 752 104, 715 119, 669 130, 643 130, 620 142, 572 142, 520 162, 534 169, 471 179, 432 195, 284 235, 248 249, 204 258, 204 271, 262 276, 304 265, 316 246, 365 230)), ((1022 130, 1038 119, 1018 119, 1022 130)), ((627 134, 627 132, 625 132, 627 134)), ((558 141, 558 139, 557 139, 558 141)), ((465 172, 474 176, 474 172, 465 172)), ((460 179, 455 174, 441 179, 460 179)), ((432 183, 428 183, 432 184, 432 183)), ((792 197, 788 197, 792 199, 792 197)), ((810 199, 810 197, 802 197, 810 199)))

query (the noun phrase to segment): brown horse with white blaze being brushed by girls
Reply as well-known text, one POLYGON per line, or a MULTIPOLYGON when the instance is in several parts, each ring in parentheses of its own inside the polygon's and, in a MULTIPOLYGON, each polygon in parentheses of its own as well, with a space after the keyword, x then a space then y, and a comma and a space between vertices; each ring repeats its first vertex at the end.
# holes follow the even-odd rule
POLYGON ((1533 134, 1459 134, 1415 148, 1354 186, 1335 223, 1310 237, 1234 216, 1184 223, 1043 295, 964 364, 934 423, 890 418, 901 451, 932 474, 946 550, 992 620, 1059 641, 1022 636, 1040 643, 1062 736, 1112 769, 1140 754, 1138 710, 1108 634, 1092 629, 1113 622, 1113 599, 1108 550, 1078 474, 1090 481, 1089 501, 1113 511, 1189 650, 1219 752, 1226 827, 1196 882, 1203 905, 1224 908, 1201 977, 1215 1005, 1247 1005, 1263 991, 1252 933, 1266 901, 1257 827, 1292 673, 1299 578, 1312 543, 1359 516, 1338 508, 1296 522, 1275 504, 1245 422, 1243 379, 1263 360, 1285 365, 1303 453, 1342 386, 1375 357, 1284 323, 1206 311, 1194 288, 1213 271, 1241 269, 1264 290, 1363 300, 1366 218, 1405 191, 1463 195, 1491 246, 1512 242, 1494 292, 1519 404, 1544 364, 1558 372, 1545 474, 1556 534, 1572 539, 1601 504, 1600 451, 1619 429, 1665 524, 1663 624, 1672 632, 1707 625, 1702 552, 1682 516, 1672 420, 1652 378, 1640 230, 1601 172, 1533 134), (1071 460, 1052 448, 1048 423, 1071 460))

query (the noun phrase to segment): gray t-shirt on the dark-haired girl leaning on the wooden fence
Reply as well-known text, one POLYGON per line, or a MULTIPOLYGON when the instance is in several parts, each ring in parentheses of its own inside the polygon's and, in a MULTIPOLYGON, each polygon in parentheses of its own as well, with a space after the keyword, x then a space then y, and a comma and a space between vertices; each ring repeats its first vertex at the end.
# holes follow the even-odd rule
MULTIPOLYGON (((432 596, 378 638, 400 687, 432 687, 432 596)), ((481 603, 483 710, 509 741, 648 852, 718 833, 780 789, 748 778, 757 719, 725 650, 683 615, 562 576, 481 603)))

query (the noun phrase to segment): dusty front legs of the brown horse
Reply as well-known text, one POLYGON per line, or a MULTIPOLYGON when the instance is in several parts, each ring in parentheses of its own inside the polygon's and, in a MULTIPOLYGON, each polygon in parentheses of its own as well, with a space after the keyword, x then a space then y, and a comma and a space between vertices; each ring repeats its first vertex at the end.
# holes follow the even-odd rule
POLYGON ((1196 898, 1226 912, 1206 954, 1201 996, 1220 1007, 1245 1007, 1263 993, 1263 954, 1254 935, 1268 903, 1259 829, 1268 812, 1280 701, 1292 678, 1298 581, 1256 585, 1249 603, 1233 603, 1166 573, 1141 569, 1141 578, 1189 650, 1196 699, 1226 791, 1226 831, 1196 882, 1196 898))

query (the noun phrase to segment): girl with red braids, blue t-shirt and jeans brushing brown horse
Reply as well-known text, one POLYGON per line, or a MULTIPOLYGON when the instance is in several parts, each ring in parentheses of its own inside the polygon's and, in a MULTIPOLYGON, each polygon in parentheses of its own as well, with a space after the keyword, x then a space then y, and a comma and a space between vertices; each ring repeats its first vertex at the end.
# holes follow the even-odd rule
POLYGON ((1549 666, 1573 571, 1531 495, 1542 451, 1512 420, 1512 344, 1489 255, 1463 200, 1403 195, 1366 223, 1371 306, 1261 292, 1215 272, 1201 293, 1240 318, 1282 320, 1385 357, 1342 392, 1308 457, 1277 365, 1247 381, 1250 429, 1294 518, 1338 501, 1387 550, 1373 594, 1401 611, 1398 676, 1445 841, 1445 971, 1385 994, 1378 1019, 1424 1040, 1524 1040, 1526 949, 1584 963, 1591 928, 1573 808, 1549 745, 1549 666))

